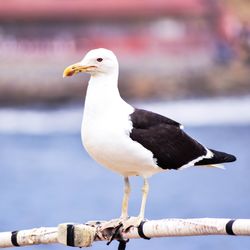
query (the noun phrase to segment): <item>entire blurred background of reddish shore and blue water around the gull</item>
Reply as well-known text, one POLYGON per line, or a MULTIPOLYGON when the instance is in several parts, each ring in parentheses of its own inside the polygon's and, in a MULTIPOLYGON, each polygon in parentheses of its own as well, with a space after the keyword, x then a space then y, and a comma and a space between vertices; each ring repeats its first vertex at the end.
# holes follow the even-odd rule
MULTIPOLYGON (((238 158, 226 171, 154 176, 147 217, 250 218, 249 1, 8 0, 0 2, 0 231, 119 216, 122 178, 81 146, 88 76, 62 79, 66 66, 98 47, 118 56, 126 100, 238 158)), ((142 183, 132 181, 135 215, 142 183)), ((244 237, 186 237, 134 240, 128 248, 249 244, 244 237)))

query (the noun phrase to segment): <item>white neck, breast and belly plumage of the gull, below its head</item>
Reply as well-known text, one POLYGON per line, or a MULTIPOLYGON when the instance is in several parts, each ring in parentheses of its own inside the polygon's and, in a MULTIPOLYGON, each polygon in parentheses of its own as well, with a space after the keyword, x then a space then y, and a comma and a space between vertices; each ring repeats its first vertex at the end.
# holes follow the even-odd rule
POLYGON ((162 171, 152 152, 129 137, 134 108, 113 83, 110 78, 90 79, 81 129, 85 149, 98 163, 124 176, 148 177, 162 171))

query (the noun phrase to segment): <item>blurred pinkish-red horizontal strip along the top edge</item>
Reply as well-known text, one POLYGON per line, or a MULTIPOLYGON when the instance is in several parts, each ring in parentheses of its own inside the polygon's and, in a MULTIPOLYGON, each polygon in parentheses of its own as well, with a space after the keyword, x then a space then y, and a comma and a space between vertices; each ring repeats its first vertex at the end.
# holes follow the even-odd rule
POLYGON ((1 1, 0 20, 84 20, 204 15, 204 0, 8 0, 1 1))

